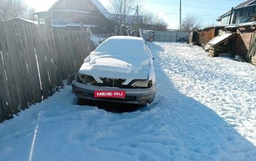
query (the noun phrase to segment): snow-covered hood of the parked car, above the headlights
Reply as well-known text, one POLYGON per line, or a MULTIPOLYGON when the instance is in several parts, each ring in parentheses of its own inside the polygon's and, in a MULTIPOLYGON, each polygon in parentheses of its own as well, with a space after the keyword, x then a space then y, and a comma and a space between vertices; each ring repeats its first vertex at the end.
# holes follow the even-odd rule
POLYGON ((97 53, 88 56, 79 73, 91 75, 97 82, 99 77, 126 79, 124 85, 134 79, 148 79, 149 58, 127 53, 97 53))

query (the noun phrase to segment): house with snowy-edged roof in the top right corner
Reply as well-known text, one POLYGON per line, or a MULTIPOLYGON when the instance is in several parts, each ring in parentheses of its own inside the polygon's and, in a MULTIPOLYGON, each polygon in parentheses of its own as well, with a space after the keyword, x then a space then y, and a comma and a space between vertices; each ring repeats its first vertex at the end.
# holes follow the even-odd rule
POLYGON ((217 21, 219 25, 241 24, 245 22, 256 21, 256 0, 248 0, 231 8, 220 17, 217 21))

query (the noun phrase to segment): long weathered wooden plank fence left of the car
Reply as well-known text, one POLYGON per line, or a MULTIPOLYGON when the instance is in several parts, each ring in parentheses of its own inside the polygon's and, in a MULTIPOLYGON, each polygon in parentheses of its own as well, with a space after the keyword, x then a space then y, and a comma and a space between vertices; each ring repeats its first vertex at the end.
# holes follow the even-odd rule
POLYGON ((112 35, 0 22, 0 122, 51 96, 112 35))

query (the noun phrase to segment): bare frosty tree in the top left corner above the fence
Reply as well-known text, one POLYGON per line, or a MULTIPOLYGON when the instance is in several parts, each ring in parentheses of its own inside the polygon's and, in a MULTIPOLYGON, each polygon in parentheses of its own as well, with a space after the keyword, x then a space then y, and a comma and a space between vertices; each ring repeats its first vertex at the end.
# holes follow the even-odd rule
POLYGON ((34 11, 22 0, 0 0, 0 21, 7 21, 15 17, 32 20, 34 11))

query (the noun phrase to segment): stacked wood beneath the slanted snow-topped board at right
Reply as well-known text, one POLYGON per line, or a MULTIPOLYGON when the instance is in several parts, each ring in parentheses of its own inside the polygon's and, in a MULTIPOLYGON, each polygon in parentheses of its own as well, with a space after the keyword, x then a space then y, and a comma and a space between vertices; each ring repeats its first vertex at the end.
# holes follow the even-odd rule
POLYGON ((231 56, 231 47, 229 47, 228 45, 213 45, 212 47, 210 47, 209 49, 209 56, 210 57, 228 57, 231 56))

